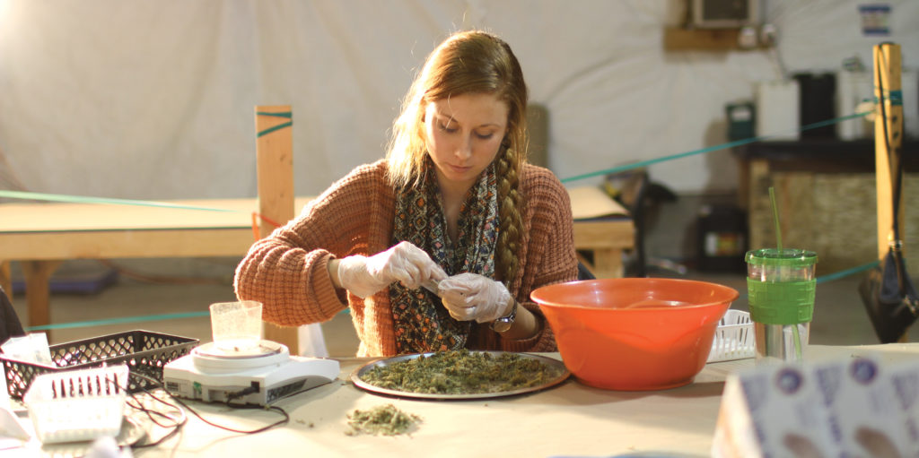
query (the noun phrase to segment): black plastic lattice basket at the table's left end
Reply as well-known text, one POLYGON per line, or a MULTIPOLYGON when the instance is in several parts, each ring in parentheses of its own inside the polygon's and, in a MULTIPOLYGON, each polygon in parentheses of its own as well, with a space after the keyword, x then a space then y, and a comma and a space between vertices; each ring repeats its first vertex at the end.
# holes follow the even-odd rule
MULTIPOLYGON (((32 380, 40 374, 88 369, 103 364, 127 363, 130 374, 143 374, 162 383, 163 366, 185 356, 198 344, 198 339, 149 330, 128 330, 83 341, 51 345, 51 360, 55 365, 9 359, 3 353, 0 353, 0 361, 3 362, 9 396, 22 399, 32 380)), ((131 393, 156 387, 146 378, 128 378, 131 393)))

